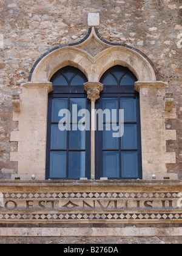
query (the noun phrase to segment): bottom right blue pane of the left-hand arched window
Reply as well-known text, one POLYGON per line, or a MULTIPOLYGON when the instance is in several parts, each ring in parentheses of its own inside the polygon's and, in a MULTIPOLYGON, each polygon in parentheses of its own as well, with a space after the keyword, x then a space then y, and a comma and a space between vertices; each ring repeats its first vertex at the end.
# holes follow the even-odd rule
POLYGON ((86 177, 86 152, 69 152, 69 178, 86 177))

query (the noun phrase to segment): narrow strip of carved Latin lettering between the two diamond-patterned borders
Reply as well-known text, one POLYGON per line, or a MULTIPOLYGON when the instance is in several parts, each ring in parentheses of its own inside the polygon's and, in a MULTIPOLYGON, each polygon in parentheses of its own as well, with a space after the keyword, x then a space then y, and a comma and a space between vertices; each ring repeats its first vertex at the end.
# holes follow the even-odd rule
POLYGON ((26 200, 5 201, 0 210, 172 210, 179 209, 177 200, 26 200))

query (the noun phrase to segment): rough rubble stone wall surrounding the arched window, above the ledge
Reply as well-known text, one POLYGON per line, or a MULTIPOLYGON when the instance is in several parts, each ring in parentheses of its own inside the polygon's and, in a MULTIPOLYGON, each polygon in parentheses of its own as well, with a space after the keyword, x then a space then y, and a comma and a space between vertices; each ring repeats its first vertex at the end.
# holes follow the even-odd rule
POLYGON ((0 0, 0 179, 10 179, 17 163, 10 162, 12 94, 27 82, 33 63, 59 44, 79 41, 87 34, 87 13, 99 12, 99 33, 116 43, 143 51, 157 67, 160 79, 174 93, 177 119, 166 129, 177 130, 177 141, 167 141, 167 151, 177 153, 169 172, 182 178, 181 129, 181 0, 0 0))

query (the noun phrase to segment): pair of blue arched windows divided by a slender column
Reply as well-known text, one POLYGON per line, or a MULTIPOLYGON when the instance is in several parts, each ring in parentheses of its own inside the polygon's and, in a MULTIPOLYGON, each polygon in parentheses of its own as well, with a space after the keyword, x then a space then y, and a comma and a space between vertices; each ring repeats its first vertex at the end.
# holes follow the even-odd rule
MULTIPOLYGON (((66 66, 50 82, 46 179, 91 178, 91 103, 87 77, 66 66)), ((103 91, 95 102, 95 179, 141 179, 141 131, 136 77, 113 66, 101 77, 103 91)), ((93 138, 92 138, 93 139, 93 138)))

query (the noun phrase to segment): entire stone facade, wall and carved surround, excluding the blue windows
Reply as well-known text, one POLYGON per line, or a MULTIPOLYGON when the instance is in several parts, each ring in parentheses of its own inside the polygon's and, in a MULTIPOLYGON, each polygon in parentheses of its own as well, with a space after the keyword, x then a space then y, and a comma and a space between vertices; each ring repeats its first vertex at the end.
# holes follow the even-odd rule
MULTIPOLYGON (((180 208, 175 208, 181 192, 182 178, 181 0, 0 0, 0 12, 0 179, 3 196, 9 194, 7 201, 13 201, 6 201, 5 208, 0 211, 0 236, 10 237, 9 240, 0 239, 2 243, 10 241, 15 235, 17 242, 23 241, 23 238, 18 238, 22 231, 26 237, 24 241, 31 242, 34 241, 34 236, 46 235, 49 228, 49 232, 57 232, 56 236, 59 238, 42 238, 42 241, 69 243, 70 237, 74 236, 74 225, 83 232, 80 238, 74 238, 75 243, 107 243, 110 237, 115 243, 180 243, 182 213, 180 208), (95 29, 89 29, 89 13, 92 13, 89 15, 89 26, 96 26, 95 29), (17 177, 30 180, 32 174, 36 174, 36 180, 45 179, 45 109, 47 94, 52 90, 50 77, 62 66, 77 65, 89 82, 98 83, 108 68, 118 64, 128 66, 139 80, 135 89, 140 92, 143 178, 147 180, 146 183, 130 183, 135 188, 132 191, 122 182, 117 184, 117 188, 114 183, 99 183, 99 199, 107 191, 107 186, 112 197, 108 197, 107 202, 106 198, 105 202, 98 200, 100 204, 98 201, 92 204, 85 201, 88 195, 83 196, 78 183, 73 183, 72 188, 61 183, 63 191, 59 186, 55 190, 50 182, 39 185, 29 184, 28 181, 16 183, 14 180, 17 177), (38 110, 41 111, 41 118, 38 110), (152 174, 161 181, 150 184, 152 174), (172 179, 174 183, 166 183, 164 179, 172 179), (27 194, 29 189, 33 197, 27 194), (38 202, 47 189, 52 194, 60 191, 69 193, 64 198, 67 211, 64 213, 63 210, 61 213, 62 219, 56 216, 57 213, 49 213, 53 209, 47 210, 44 202, 38 202), (38 197, 34 198, 38 191, 38 197), (72 191, 83 196, 81 201, 76 198, 77 201, 72 202, 72 191), (124 207, 123 197, 119 194, 122 191, 129 194, 129 198, 134 194, 134 212, 127 212, 127 208, 121 211, 124 207), (18 193, 20 197, 15 198, 18 193), (113 199, 113 193, 120 202, 113 199), (145 194, 141 204, 138 193, 145 194), (156 193, 158 197, 155 198, 156 193), (34 205, 32 198, 38 203, 38 209, 43 210, 40 215, 32 214, 33 217, 29 211, 34 205), (69 200, 66 201, 67 199, 69 200), (25 208, 18 208, 18 202, 25 205, 25 208), (89 207, 89 210, 92 211, 88 213, 90 215, 84 217, 83 208, 74 208, 79 217, 75 212, 69 216, 69 207, 83 205, 83 202, 87 207, 91 205, 92 209, 89 207), (95 204, 98 208, 93 208, 96 207, 95 204), (116 210, 116 204, 122 204, 119 215, 116 212, 103 213, 101 210, 102 205, 103 208, 111 207, 109 211, 116 210), (143 208, 138 204, 143 205, 143 208), (147 212, 144 212, 146 209, 147 212), (49 218, 53 222, 52 226, 44 225, 44 229, 36 230, 39 223, 49 222, 49 218), (58 223, 55 218, 58 218, 58 223), (60 225, 66 225, 70 218, 75 224, 64 226, 64 232, 61 231, 63 226, 60 225), (19 224, 22 221, 24 226, 19 224), (84 229, 85 223, 82 221, 91 226, 86 225, 84 229), (126 221, 132 230, 136 227, 137 230, 133 231, 136 235, 129 235, 126 221), (18 227, 19 231, 10 228, 12 223, 13 228, 18 227), (31 225, 34 230, 32 233, 29 229, 31 225), (112 233, 112 227, 118 228, 118 234, 112 233), (108 232, 108 238, 102 238, 104 229, 108 232)), ((96 192, 94 186, 98 184, 87 183, 87 190, 84 191, 96 192)), ((41 201, 50 200, 50 196, 44 196, 41 201)), ((53 198, 50 201, 50 205, 53 205, 53 198)), ((124 202, 126 204, 126 199, 124 202)), ((33 211, 36 212, 37 209, 33 208, 33 211)))

